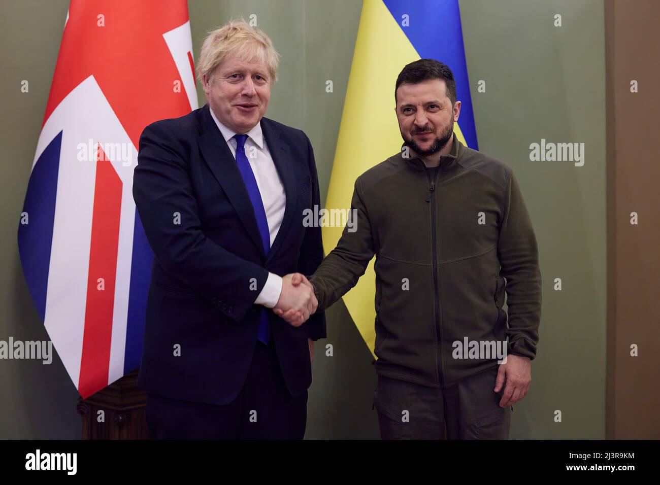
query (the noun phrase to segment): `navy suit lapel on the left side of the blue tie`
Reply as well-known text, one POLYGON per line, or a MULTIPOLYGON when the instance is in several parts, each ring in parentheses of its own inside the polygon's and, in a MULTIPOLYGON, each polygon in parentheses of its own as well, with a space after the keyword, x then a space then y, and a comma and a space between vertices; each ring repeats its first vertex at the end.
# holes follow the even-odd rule
POLYGON ((250 238, 259 248, 261 255, 265 257, 263 243, 261 243, 261 237, 259 236, 259 227, 257 226, 257 219, 254 216, 254 208, 249 199, 248 189, 246 189, 241 173, 238 170, 236 159, 224 141, 222 133, 220 133, 218 126, 213 121, 209 110, 210 108, 207 104, 200 112, 201 115, 198 120, 200 131, 198 137, 199 148, 201 148, 204 161, 211 169, 218 183, 222 185, 222 190, 224 190, 234 210, 236 210, 250 238))

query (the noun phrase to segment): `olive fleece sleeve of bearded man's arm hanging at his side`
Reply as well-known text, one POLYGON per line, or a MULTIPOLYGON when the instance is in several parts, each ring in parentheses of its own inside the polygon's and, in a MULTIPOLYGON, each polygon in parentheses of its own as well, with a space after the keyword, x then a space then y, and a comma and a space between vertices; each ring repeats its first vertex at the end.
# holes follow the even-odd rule
POLYGON ((506 278, 509 353, 535 358, 541 322, 541 271, 532 223, 511 172, 498 238, 500 274, 506 278))

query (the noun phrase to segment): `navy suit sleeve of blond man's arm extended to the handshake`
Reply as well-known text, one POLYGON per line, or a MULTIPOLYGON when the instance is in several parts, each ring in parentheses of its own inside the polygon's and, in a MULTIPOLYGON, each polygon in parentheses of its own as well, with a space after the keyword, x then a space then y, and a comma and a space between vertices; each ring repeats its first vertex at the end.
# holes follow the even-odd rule
POLYGON ((164 270, 240 322, 261 292, 268 271, 226 251, 202 232, 188 158, 166 125, 149 125, 140 137, 133 199, 164 270), (251 278, 257 282, 256 292, 254 285, 250 288, 251 278))

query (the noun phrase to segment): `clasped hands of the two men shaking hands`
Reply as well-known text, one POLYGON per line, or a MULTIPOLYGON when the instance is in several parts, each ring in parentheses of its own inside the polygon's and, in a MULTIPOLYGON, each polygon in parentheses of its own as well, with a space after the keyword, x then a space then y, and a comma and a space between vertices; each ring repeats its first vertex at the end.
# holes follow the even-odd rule
POLYGON ((300 273, 282 276, 282 292, 273 308, 275 314, 294 327, 300 327, 316 311, 319 302, 312 283, 300 273))

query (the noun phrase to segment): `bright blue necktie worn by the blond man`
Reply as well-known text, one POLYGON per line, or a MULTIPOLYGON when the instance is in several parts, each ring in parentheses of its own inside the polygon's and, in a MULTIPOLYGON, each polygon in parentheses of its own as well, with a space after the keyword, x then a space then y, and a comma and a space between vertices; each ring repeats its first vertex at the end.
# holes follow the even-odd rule
MULTIPOLYGON (((238 164, 238 170, 240 170, 243 181, 246 184, 246 189, 248 189, 249 199, 254 209, 254 216, 257 219, 261 243, 263 243, 263 250, 266 256, 268 256, 268 252, 271 250, 271 233, 268 229, 268 220, 266 218, 266 211, 263 209, 263 201, 261 200, 257 179, 254 177, 252 168, 249 166, 248 157, 246 156, 245 144, 248 135, 234 135, 234 138, 236 139, 236 163, 238 164)), ((261 323, 259 323, 257 338, 268 345, 271 341, 271 324, 268 321, 266 311, 265 308, 261 309, 261 323)))

